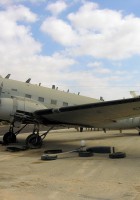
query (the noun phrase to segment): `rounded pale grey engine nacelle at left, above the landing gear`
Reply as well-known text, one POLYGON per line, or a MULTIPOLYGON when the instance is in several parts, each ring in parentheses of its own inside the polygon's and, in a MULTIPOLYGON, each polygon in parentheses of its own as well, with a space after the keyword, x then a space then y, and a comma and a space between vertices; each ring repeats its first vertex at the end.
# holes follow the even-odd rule
POLYGON ((0 120, 13 120, 16 112, 33 113, 36 110, 46 109, 46 107, 38 101, 24 97, 1 98, 0 99, 0 120))

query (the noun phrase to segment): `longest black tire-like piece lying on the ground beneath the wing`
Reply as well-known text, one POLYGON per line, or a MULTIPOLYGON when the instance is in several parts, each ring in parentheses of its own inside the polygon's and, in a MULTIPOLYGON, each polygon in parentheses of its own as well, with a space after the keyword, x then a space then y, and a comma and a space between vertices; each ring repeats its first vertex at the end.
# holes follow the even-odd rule
POLYGON ((109 146, 89 147, 86 150, 88 152, 93 152, 93 153, 114 153, 115 152, 114 147, 109 147, 109 146))

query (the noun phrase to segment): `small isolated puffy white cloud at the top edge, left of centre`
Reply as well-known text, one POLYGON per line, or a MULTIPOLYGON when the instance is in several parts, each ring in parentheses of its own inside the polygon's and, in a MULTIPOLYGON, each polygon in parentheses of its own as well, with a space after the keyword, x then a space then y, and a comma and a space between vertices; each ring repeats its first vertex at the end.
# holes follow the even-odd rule
POLYGON ((55 3, 50 3, 46 9, 49 10, 53 15, 58 15, 66 8, 67 8, 66 2, 63 0, 58 0, 55 3))

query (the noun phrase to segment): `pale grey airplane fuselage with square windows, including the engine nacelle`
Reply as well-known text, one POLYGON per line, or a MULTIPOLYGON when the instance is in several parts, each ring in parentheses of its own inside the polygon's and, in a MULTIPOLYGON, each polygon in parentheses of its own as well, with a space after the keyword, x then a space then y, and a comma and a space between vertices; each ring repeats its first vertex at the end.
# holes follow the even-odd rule
MULTIPOLYGON (((57 89, 0 77, 0 119, 11 122, 15 113, 33 113, 46 108, 59 108, 99 102, 99 99, 57 89)), ((104 123, 105 129, 130 129, 140 126, 140 117, 104 123)))

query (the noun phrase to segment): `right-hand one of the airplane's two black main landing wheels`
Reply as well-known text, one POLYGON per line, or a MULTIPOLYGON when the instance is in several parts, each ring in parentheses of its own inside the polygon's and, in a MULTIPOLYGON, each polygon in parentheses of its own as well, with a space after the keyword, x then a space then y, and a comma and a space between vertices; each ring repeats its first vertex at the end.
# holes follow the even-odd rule
POLYGON ((37 134, 31 134, 26 138, 26 146, 30 149, 37 149, 42 146, 41 136, 37 134))

